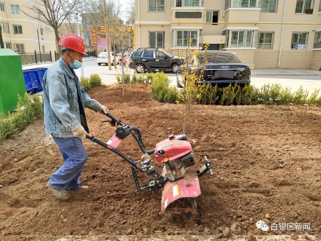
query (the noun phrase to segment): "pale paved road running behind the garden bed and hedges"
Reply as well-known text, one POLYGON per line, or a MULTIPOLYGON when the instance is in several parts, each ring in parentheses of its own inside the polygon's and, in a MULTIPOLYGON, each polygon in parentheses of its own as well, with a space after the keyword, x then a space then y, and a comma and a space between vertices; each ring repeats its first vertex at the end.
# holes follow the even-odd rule
MULTIPOLYGON (((23 69, 48 67, 51 64, 26 66, 23 69)), ((112 66, 112 70, 108 70, 107 65, 98 66, 96 59, 84 59, 83 66, 85 76, 97 73, 101 76, 104 84, 117 83, 115 75, 121 73, 120 66, 117 65, 117 69, 112 66)), ((134 70, 125 68, 125 73, 132 75, 134 70)), ((76 70, 76 74, 80 77, 81 70, 76 70)), ((171 85, 176 86, 176 75, 171 72, 167 72, 167 74, 172 80, 171 85)), ((311 93, 314 89, 321 89, 321 71, 309 69, 254 69, 252 70, 251 84, 257 88, 261 88, 264 84, 280 84, 283 87, 290 87, 292 91, 297 90, 302 85, 304 89, 308 89, 311 93)))

